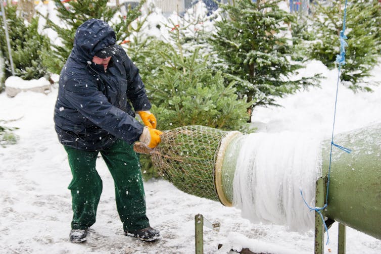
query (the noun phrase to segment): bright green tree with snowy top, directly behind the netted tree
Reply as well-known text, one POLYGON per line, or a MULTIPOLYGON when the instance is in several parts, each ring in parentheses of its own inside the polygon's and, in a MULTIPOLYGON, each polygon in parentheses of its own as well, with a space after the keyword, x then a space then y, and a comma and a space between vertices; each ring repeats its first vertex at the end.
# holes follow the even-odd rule
POLYGON ((204 45, 198 44, 197 38, 203 36, 198 34, 203 30, 192 28, 192 35, 188 33, 189 27, 197 23, 200 19, 187 17, 168 27, 172 30, 168 41, 147 38, 144 45, 128 49, 128 55, 140 67, 154 104, 152 111, 160 119, 158 128, 204 125, 247 131, 246 99, 238 98, 233 83, 225 85, 221 71, 210 68, 206 52, 200 54, 204 45))

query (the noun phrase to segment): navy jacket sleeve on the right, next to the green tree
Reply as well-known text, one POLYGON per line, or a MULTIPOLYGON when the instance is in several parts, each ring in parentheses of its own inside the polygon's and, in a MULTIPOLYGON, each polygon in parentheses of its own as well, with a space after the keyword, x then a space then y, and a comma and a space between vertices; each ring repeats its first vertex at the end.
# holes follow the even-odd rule
POLYGON ((141 81, 139 69, 128 58, 127 54, 124 54, 126 57, 127 98, 131 101, 135 111, 150 110, 151 103, 148 99, 145 85, 143 81, 141 81))

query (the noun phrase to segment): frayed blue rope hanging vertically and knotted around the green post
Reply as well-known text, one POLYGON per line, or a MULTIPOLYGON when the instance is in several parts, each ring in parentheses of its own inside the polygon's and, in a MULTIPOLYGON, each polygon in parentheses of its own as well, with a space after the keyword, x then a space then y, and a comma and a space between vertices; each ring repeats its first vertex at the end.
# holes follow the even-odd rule
POLYGON ((340 32, 340 54, 336 56, 336 62, 339 64, 339 74, 338 74, 338 82, 336 85, 336 98, 335 98, 335 111, 334 111, 334 123, 332 126, 332 137, 331 137, 331 147, 330 147, 330 153, 329 153, 329 168, 328 168, 328 179, 327 179, 327 191, 326 191, 326 196, 325 196, 325 203, 323 207, 311 207, 307 204, 307 201, 303 197, 303 192, 300 190, 300 194, 302 195, 304 204, 308 207, 310 211, 315 211, 320 215, 321 220, 323 221, 324 229, 325 232, 327 232, 327 242, 326 244, 329 243, 329 234, 328 234, 328 228, 327 225, 325 224, 324 217, 321 213, 321 210, 325 209, 328 206, 328 190, 329 190, 329 180, 330 180, 330 171, 331 171, 331 163, 332 163, 332 147, 336 146, 339 149, 342 149, 346 153, 350 154, 351 149, 343 147, 341 145, 338 145, 334 142, 334 130, 335 130, 335 119, 336 119, 336 106, 338 103, 338 92, 339 92, 339 81, 340 81, 340 71, 341 71, 341 66, 345 65, 345 47, 348 46, 347 42, 345 41, 347 39, 347 36, 345 36, 345 23, 346 23, 346 16, 347 16, 347 2, 348 0, 345 0, 345 7, 344 7, 344 18, 343 18, 343 30, 340 32))

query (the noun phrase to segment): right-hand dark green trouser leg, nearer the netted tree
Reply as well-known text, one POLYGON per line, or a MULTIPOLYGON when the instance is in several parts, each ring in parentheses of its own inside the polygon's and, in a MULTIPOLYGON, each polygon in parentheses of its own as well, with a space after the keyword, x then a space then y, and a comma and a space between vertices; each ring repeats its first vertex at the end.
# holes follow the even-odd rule
POLYGON ((114 179, 116 206, 124 231, 150 226, 139 158, 132 145, 118 140, 101 155, 114 179))

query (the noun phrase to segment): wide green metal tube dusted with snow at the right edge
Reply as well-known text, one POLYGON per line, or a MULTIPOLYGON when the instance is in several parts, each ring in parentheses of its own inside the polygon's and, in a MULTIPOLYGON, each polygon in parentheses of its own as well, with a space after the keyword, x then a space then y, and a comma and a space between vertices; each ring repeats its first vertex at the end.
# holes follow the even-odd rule
MULTIPOLYGON (((381 124, 339 134, 333 147, 328 206, 323 215, 381 239, 381 124)), ((323 142, 322 172, 329 168, 330 140, 323 142)))

